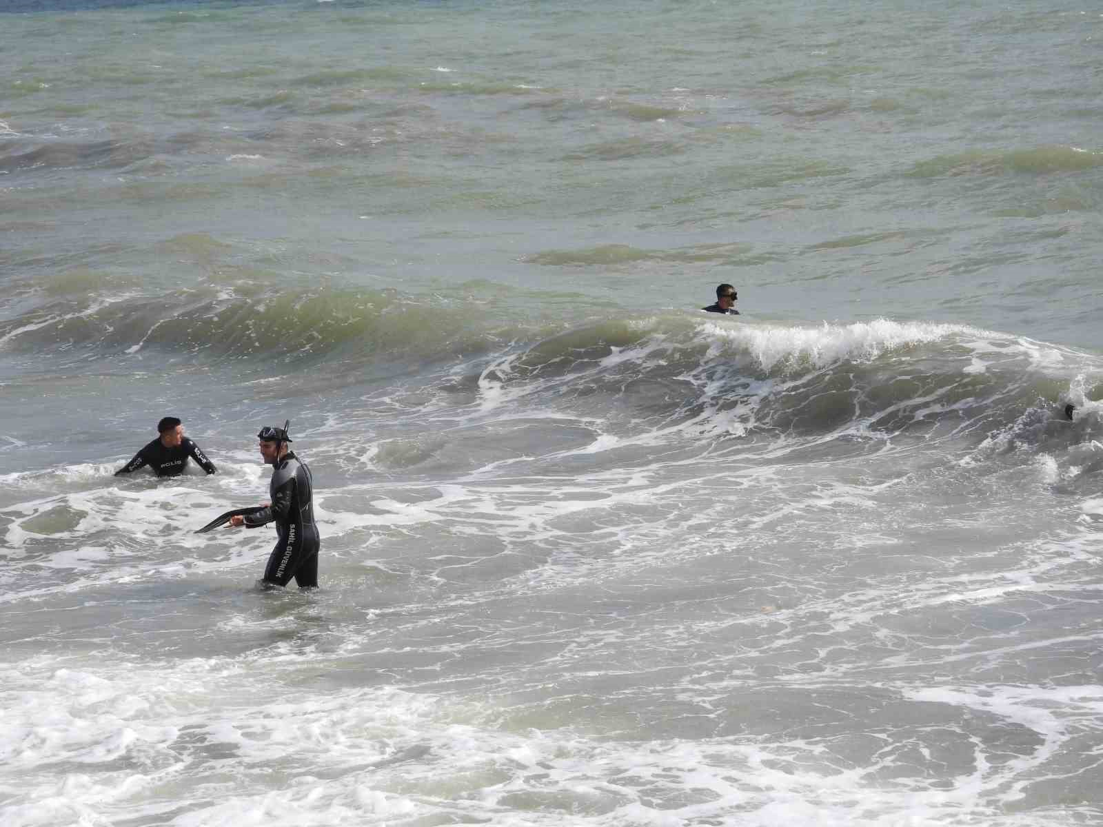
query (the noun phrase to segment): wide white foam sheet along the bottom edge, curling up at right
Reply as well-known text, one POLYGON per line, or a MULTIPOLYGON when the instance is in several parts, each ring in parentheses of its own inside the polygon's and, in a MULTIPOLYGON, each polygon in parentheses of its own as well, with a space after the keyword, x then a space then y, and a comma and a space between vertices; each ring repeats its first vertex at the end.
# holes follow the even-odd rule
MULTIPOLYGON (((51 669, 40 657, 25 666, 4 674, 0 690, 9 710, 0 719, 4 825, 97 824, 108 807, 116 820, 178 827, 945 825, 963 808, 996 815, 994 782, 1015 781, 1039 759, 982 763, 977 783, 949 790, 914 773, 885 784, 877 771, 893 769, 890 755, 840 766, 816 740, 593 739, 540 729, 532 716, 536 726, 511 731, 493 705, 388 688, 274 697, 286 667, 263 656, 95 669, 51 669)), ((1097 687, 997 687, 992 697, 928 689, 912 700, 1048 732, 1047 754, 1068 729, 1062 717, 1089 720, 1103 706, 1097 687)))

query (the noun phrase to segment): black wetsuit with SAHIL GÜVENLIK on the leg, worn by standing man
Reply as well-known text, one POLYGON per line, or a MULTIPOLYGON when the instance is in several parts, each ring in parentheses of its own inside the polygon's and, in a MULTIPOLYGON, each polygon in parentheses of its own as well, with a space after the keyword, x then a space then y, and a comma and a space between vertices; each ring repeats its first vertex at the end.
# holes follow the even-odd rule
POLYGON ((321 539, 314 525, 313 477, 307 463, 291 451, 276 462, 269 485, 271 505, 245 516, 248 528, 276 520, 279 539, 265 567, 264 582, 287 586, 291 578, 300 588, 318 586, 318 549, 321 539))

